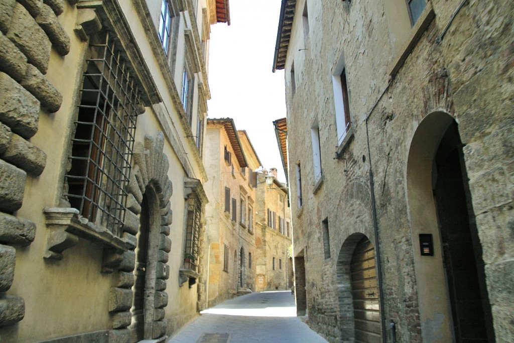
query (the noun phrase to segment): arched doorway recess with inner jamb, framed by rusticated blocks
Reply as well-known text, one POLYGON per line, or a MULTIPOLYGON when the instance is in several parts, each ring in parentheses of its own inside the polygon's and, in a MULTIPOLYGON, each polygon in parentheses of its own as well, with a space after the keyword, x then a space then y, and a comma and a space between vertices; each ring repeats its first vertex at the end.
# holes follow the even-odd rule
POLYGON ((136 264, 134 268, 133 305, 131 309, 131 342, 153 337, 155 312, 156 264, 152 247, 158 245, 160 213, 157 195, 152 186, 147 186, 141 201, 139 231, 136 235, 136 264))

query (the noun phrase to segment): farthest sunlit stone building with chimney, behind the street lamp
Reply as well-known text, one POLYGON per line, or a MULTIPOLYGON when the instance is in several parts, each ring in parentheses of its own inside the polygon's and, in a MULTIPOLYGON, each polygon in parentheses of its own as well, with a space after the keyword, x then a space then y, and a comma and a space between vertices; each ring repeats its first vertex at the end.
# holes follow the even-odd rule
POLYGON ((292 287, 291 211, 287 188, 277 179, 276 169, 258 173, 256 198, 256 291, 288 290, 292 287), (271 185, 266 177, 272 179, 271 185))

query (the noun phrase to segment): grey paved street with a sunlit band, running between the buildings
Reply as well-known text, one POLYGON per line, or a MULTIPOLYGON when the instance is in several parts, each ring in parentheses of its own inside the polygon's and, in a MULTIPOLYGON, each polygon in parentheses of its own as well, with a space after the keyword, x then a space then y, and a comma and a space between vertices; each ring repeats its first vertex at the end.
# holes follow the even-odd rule
POLYGON ((227 300, 183 328, 168 343, 326 343, 296 316, 290 291, 227 300))

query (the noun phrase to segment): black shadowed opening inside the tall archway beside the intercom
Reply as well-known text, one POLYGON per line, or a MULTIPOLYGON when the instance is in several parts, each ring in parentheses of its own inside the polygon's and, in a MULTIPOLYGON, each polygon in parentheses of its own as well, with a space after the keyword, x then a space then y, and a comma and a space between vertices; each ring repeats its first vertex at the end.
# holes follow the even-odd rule
POLYGON ((455 121, 435 154, 434 200, 457 343, 493 342, 484 262, 471 205, 462 142, 455 121))

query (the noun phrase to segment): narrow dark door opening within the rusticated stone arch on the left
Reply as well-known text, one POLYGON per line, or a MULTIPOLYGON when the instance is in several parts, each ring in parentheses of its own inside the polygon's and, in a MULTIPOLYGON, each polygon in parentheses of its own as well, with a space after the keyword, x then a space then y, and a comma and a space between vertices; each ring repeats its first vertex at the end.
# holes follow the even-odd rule
POLYGON ((134 303, 132 305, 131 342, 144 339, 144 291, 146 281, 146 260, 148 258, 148 238, 150 232, 150 208, 148 199, 143 196, 139 216, 139 233, 134 269, 134 303))

